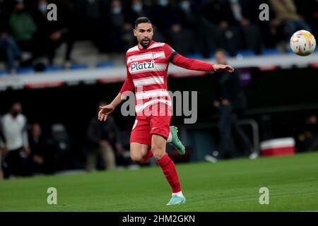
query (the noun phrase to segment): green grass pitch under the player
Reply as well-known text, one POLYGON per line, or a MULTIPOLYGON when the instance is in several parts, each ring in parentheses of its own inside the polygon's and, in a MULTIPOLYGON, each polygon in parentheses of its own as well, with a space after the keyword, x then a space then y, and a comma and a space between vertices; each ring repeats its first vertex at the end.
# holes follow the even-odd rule
POLYGON ((0 211, 317 211, 318 153, 177 165, 187 203, 165 206, 159 167, 0 181, 0 211), (57 205, 47 189, 57 189, 57 205), (259 189, 269 189, 269 205, 259 189))

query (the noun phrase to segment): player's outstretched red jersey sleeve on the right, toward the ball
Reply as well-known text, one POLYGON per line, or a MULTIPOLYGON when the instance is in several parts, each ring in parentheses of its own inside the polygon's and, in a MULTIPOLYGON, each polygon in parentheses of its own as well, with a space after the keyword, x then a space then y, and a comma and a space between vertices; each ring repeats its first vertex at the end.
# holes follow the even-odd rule
POLYGON ((176 66, 182 67, 184 69, 194 70, 194 71, 214 71, 213 64, 206 63, 204 61, 199 61, 196 59, 189 59, 187 57, 182 57, 180 54, 175 52, 169 44, 165 44, 165 56, 169 62, 175 64, 176 66))

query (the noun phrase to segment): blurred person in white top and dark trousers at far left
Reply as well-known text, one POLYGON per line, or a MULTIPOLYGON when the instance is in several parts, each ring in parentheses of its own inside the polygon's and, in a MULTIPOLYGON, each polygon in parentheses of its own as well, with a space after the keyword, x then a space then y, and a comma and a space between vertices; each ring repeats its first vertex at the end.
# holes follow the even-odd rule
POLYGON ((19 102, 13 103, 11 111, 2 117, 1 134, 3 134, 4 177, 30 175, 27 119, 22 114, 19 102))

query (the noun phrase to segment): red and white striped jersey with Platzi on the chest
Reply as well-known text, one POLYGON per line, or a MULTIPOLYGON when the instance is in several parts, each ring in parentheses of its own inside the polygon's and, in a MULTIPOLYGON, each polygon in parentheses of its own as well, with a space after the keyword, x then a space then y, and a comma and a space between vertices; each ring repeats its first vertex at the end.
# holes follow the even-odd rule
POLYGON ((213 64, 182 57, 163 42, 152 41, 145 49, 140 49, 139 45, 128 49, 127 78, 120 93, 135 88, 137 114, 156 103, 172 106, 167 90, 167 70, 170 62, 190 70, 213 70, 213 64))

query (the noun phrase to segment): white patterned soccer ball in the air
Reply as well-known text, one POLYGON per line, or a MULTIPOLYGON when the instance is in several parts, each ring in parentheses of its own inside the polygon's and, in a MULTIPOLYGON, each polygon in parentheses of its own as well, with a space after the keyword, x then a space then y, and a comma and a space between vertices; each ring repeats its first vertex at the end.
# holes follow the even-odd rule
POLYGON ((307 30, 298 30, 290 38, 290 49, 298 56, 308 56, 314 52, 316 40, 314 35, 307 30))

